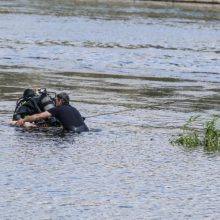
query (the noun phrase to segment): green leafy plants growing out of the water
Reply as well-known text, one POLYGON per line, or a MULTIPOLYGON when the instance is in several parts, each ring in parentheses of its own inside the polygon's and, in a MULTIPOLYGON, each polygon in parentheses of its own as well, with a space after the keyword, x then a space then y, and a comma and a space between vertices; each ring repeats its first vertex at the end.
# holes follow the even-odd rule
POLYGON ((217 120, 214 117, 203 125, 199 130, 195 127, 199 116, 191 117, 181 128, 181 133, 171 140, 173 145, 180 145, 188 149, 203 147, 207 152, 220 151, 220 129, 217 128, 217 120))

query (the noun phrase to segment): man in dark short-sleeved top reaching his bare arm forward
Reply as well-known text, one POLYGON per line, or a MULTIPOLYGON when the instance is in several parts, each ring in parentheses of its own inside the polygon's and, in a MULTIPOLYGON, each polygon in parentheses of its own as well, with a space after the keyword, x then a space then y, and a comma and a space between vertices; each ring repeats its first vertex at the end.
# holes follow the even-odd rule
POLYGON ((20 119, 16 122, 16 125, 23 126, 25 122, 33 122, 50 117, 56 117, 64 130, 78 133, 89 130, 79 111, 69 104, 69 96, 64 92, 57 95, 56 107, 20 119))

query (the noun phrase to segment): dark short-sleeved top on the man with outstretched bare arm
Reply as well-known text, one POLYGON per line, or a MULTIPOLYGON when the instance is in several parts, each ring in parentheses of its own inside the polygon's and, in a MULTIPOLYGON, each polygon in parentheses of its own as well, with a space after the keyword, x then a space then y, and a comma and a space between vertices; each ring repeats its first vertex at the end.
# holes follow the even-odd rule
POLYGON ((64 130, 79 133, 89 130, 79 111, 69 104, 51 108, 48 112, 60 121, 64 130))

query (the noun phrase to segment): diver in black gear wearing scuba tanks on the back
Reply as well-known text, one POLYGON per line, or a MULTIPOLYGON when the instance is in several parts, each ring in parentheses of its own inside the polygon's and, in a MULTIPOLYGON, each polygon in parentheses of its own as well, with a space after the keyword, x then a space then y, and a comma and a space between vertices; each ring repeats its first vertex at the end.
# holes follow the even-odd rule
MULTIPOLYGON (((13 114, 13 122, 36 113, 47 111, 55 107, 54 99, 46 89, 25 89, 23 96, 18 99, 13 114)), ((55 117, 50 117, 33 124, 35 126, 60 126, 55 117)))

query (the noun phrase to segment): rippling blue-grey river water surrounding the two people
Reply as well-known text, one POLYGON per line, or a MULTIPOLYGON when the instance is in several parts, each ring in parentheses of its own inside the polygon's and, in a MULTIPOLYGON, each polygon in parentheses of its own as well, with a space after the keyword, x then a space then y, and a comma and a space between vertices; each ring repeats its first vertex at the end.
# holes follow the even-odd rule
POLYGON ((0 85, 0 219, 220 218, 219 155, 169 142, 219 115, 220 6, 2 0, 0 85), (33 86, 91 131, 10 127, 33 86))

